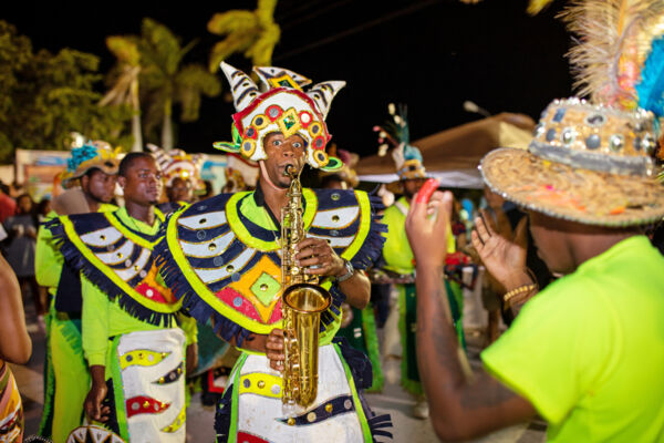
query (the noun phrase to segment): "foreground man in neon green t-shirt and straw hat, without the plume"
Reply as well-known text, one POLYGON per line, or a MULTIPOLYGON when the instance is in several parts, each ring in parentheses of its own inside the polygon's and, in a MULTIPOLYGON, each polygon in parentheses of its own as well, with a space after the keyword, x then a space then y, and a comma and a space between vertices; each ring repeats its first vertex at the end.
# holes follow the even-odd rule
POLYGON ((664 216, 653 114, 570 99, 552 102, 539 127, 528 151, 496 150, 481 172, 528 210, 538 254, 563 277, 536 295, 526 251, 476 220, 473 245, 508 290, 506 305, 523 308, 481 353, 473 381, 437 301, 452 196, 415 197, 406 220, 432 423, 439 437, 459 440, 537 412, 553 442, 664 442, 664 257, 641 234, 664 216))

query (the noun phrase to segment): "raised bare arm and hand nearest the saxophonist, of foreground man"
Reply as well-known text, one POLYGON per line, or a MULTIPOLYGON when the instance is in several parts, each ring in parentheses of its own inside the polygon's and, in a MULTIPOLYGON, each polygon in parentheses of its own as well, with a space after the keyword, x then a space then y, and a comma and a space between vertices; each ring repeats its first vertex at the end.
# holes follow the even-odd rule
POLYGON ((461 368, 443 282, 453 196, 435 193, 425 202, 415 198, 406 234, 417 264, 417 363, 434 430, 443 440, 463 440, 526 421, 535 414, 526 399, 485 372, 474 378, 461 368))

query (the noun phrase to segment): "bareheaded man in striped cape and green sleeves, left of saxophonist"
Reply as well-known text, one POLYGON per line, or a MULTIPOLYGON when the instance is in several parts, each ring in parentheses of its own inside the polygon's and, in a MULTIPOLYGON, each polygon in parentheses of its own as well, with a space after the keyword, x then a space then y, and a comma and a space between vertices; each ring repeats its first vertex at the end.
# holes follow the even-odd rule
POLYGON ((185 344, 193 344, 195 327, 179 318, 180 303, 152 255, 164 222, 155 208, 160 172, 149 154, 131 153, 117 181, 125 207, 49 225, 68 264, 82 274, 83 351, 92 378, 85 413, 126 441, 184 442, 185 344))

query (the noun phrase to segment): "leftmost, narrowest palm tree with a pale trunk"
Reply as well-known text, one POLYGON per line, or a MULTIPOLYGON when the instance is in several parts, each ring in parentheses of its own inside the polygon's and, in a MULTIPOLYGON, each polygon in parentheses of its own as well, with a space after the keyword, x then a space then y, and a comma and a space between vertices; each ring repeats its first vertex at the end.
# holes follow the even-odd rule
POLYGON ((129 104, 132 115, 132 151, 143 151, 141 131, 141 104, 138 99, 138 75, 141 73, 141 53, 137 39, 134 37, 108 37, 106 47, 117 59, 117 65, 111 72, 112 86, 100 101, 100 106, 107 104, 129 104))

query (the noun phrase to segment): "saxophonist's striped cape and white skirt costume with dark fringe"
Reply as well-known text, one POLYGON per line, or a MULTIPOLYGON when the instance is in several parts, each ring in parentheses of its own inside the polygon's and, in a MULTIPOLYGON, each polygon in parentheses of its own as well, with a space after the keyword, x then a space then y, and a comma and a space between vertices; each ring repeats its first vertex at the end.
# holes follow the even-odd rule
MULTIPOLYGON (((363 192, 305 188, 304 229, 310 237, 326 239, 356 269, 365 269, 383 244, 378 202, 363 192)), ((164 279, 183 306, 200 322, 211 319, 216 332, 240 348, 250 333, 281 328, 281 233, 263 205, 260 189, 199 202, 169 218, 157 246, 164 279)), ((388 416, 373 416, 357 394, 371 384, 371 363, 333 342, 345 296, 330 279, 322 285, 333 300, 321 316, 317 401, 288 424, 280 373, 269 368, 264 354, 245 350, 219 405, 218 441, 251 435, 259 440, 248 441, 372 442, 386 435, 382 427, 388 416)))

